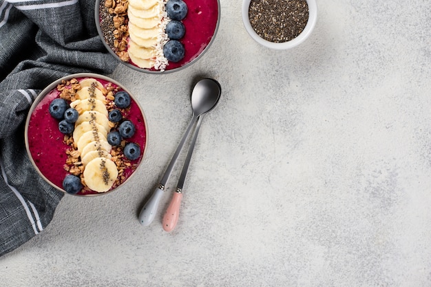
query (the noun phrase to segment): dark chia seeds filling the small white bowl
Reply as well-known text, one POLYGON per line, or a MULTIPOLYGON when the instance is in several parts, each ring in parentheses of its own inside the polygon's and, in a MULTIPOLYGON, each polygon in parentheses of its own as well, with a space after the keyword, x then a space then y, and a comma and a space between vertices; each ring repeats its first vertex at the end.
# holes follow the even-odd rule
POLYGON ((308 21, 306 0, 251 0, 251 27, 261 38, 273 43, 291 41, 308 21))

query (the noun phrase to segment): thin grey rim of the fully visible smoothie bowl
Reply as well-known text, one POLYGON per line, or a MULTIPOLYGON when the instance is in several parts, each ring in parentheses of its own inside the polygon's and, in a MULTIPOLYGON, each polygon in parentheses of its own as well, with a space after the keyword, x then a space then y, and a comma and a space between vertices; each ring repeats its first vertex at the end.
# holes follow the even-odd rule
POLYGON ((36 172, 47 183, 49 183, 52 187, 55 187, 56 190, 60 190, 61 192, 64 192, 65 194, 72 195, 72 196, 81 196, 81 197, 102 196, 104 194, 109 194, 111 192, 116 191, 119 187, 123 187, 123 185, 125 185, 125 183, 127 183, 136 174, 136 171, 142 165, 142 163, 143 163, 143 161, 145 159, 145 154, 147 153, 147 146, 148 146, 148 124, 147 124, 147 118, 145 117, 145 113, 143 111, 142 106, 140 106, 140 104, 139 104, 138 100, 136 99, 136 97, 134 96, 134 94, 131 93, 129 91, 129 89, 125 88, 123 84, 121 84, 120 82, 118 82, 118 81, 116 81, 116 80, 114 80, 112 78, 109 78, 108 76, 100 75, 98 73, 73 73, 73 74, 70 74, 70 75, 67 75, 67 76, 64 76, 62 78, 59 78, 59 79, 55 80, 54 82, 52 82, 51 84, 49 84, 47 87, 45 87, 45 89, 43 89, 37 95, 37 97, 34 99, 34 102, 30 106, 30 110, 28 111, 27 118, 25 119, 24 141, 25 141, 25 150, 27 150, 28 158, 30 159, 30 162, 32 163, 33 168, 36 170, 36 172), (36 106, 41 102, 41 100, 43 100, 43 97, 45 97, 45 95, 48 95, 48 93, 50 93, 50 91, 52 91, 55 87, 57 87, 58 84, 61 84, 61 82, 63 80, 70 80, 72 78, 96 78, 96 79, 106 80, 108 82, 112 82, 113 84, 116 84, 118 87, 121 87, 121 89, 123 89, 124 91, 126 91, 127 93, 129 93, 129 95, 134 100, 135 104, 138 106, 138 108, 140 110, 140 113, 142 114, 143 119, 144 119, 144 126, 145 126, 145 147, 144 147, 143 155, 142 155, 142 157, 140 159, 140 162, 138 163, 138 166, 136 166, 136 169, 134 170, 134 172, 132 174, 130 174, 130 176, 125 181, 123 181, 123 183, 121 183, 120 185, 118 185, 117 187, 115 187, 112 190, 108 190, 107 192, 98 192, 97 194, 70 194, 70 193, 67 193, 65 190, 63 190, 63 188, 55 185, 44 174, 42 174, 41 170, 39 170, 38 166, 34 162, 34 159, 32 157, 32 153, 30 152, 30 146, 29 146, 29 141, 28 141, 28 126, 30 124, 30 118, 32 116, 34 108, 36 108, 36 106))

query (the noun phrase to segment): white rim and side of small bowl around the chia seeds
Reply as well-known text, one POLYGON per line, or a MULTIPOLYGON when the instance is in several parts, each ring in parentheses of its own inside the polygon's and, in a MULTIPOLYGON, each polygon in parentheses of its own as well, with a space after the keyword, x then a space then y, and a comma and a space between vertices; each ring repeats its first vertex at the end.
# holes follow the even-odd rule
POLYGON ((259 43, 260 45, 264 47, 268 47, 270 49, 277 49, 277 50, 284 50, 284 49, 290 49, 293 48, 300 43, 304 42, 308 36, 310 36, 311 32, 314 29, 314 26, 317 21, 317 4, 315 0, 306 0, 308 5, 308 21, 304 28, 304 30, 299 34, 296 38, 292 39, 291 41, 287 41, 284 43, 273 43, 270 41, 266 41, 264 38, 260 37, 255 30, 253 30, 253 27, 251 27, 250 19, 249 19, 249 7, 251 0, 243 0, 242 1, 242 22, 244 23, 244 27, 246 31, 249 33, 251 38, 253 38, 254 41, 259 43))

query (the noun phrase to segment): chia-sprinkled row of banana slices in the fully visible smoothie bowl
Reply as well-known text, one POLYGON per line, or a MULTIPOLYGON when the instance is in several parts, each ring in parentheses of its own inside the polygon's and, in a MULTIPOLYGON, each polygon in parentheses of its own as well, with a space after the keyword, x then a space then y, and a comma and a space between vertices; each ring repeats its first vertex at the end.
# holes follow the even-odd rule
POLYGON ((70 103, 79 113, 73 132, 74 146, 84 165, 85 185, 95 192, 107 192, 114 185, 118 170, 110 154, 112 146, 107 142, 111 124, 103 85, 90 78, 81 80, 80 85, 76 100, 70 103))

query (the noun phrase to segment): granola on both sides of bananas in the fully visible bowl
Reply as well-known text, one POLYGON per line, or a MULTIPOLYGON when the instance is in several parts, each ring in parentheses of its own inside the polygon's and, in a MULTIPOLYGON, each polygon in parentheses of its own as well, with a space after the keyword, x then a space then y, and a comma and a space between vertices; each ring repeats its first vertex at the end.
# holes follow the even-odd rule
MULTIPOLYGON (((67 81, 63 80, 61 84, 57 85, 56 89, 60 92, 61 98, 67 101, 74 101, 76 100, 75 93, 76 91, 81 89, 81 85, 76 79, 67 81)), ((108 111, 112 111, 112 109, 114 108, 114 95, 117 91, 118 88, 113 87, 112 83, 107 84, 107 86, 102 89, 102 93, 103 95, 105 95, 107 100, 105 105, 108 111)), ((121 112, 123 113, 124 111, 121 112)), ((117 128, 118 126, 118 123, 109 122, 109 124, 111 128, 117 128)), ((65 151, 65 153, 67 154, 67 159, 65 161, 65 165, 63 165, 64 170, 69 172, 70 174, 79 176, 81 178, 81 183, 83 184, 83 190, 90 192, 91 190, 87 187, 83 179, 84 165, 81 162, 80 153, 74 145, 73 136, 65 135, 63 137, 63 142, 67 144, 67 146, 69 146, 69 148, 67 148, 67 150, 65 151)), ((126 143, 127 141, 123 139, 120 143, 120 146, 113 146, 110 152, 112 156, 111 159, 116 164, 118 170, 118 176, 113 187, 116 187, 120 185, 120 183, 123 183, 123 181, 125 181, 126 177, 124 175, 124 172, 127 168, 134 168, 130 163, 129 159, 127 159, 123 154, 123 148, 125 147, 126 143)))

